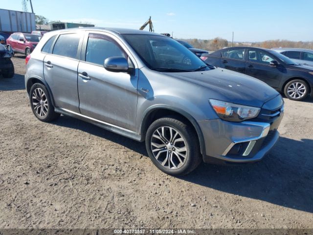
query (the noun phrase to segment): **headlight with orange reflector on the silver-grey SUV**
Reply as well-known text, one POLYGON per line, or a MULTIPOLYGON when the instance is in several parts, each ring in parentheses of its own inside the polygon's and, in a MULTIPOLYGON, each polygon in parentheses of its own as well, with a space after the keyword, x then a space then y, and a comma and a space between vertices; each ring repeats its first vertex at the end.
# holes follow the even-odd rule
POLYGON ((210 99, 210 104, 217 115, 226 121, 243 121, 255 118, 260 113, 260 108, 240 104, 233 104, 221 100, 210 99))

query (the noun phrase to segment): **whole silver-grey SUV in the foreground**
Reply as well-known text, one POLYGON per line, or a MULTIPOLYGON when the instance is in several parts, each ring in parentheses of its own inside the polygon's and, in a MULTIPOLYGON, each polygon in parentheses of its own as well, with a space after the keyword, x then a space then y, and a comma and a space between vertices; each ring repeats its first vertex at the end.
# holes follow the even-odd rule
POLYGON ((49 32, 26 63, 26 89, 39 120, 63 114, 145 141, 152 162, 168 174, 189 173, 202 160, 259 161, 279 137, 284 102, 278 92, 206 65, 156 33, 49 32))

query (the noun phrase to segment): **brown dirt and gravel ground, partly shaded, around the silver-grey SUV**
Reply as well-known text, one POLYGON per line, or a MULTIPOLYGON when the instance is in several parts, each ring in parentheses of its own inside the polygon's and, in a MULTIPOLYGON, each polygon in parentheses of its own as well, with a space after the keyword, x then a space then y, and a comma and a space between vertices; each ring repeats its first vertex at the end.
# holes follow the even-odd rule
POLYGON ((144 143, 68 117, 40 122, 24 57, 0 78, 0 228, 313 228, 313 99, 285 99, 260 163, 171 177, 144 143))

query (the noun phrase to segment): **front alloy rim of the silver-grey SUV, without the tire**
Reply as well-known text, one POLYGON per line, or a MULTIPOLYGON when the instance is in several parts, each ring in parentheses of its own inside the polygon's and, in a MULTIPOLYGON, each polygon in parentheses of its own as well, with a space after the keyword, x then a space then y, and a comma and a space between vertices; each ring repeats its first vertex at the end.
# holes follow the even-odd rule
POLYGON ((161 126, 151 137, 151 149, 157 162, 168 169, 179 169, 187 159, 187 145, 173 127, 161 126))

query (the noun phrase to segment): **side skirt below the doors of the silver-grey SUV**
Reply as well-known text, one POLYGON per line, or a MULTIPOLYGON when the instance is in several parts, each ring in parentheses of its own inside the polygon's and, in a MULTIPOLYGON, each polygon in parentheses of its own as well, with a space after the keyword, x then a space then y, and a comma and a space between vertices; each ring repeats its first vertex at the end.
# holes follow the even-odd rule
POLYGON ((95 119, 95 118, 90 118, 90 117, 87 117, 85 115, 78 114, 78 113, 75 113, 73 111, 63 109, 63 108, 54 108, 54 111, 58 114, 63 114, 63 115, 66 115, 66 116, 69 116, 72 118, 78 118, 78 119, 81 119, 83 121, 87 121, 91 124, 99 126, 99 127, 106 129, 108 131, 112 131, 112 132, 119 134, 121 136, 128 137, 128 138, 133 139, 135 141, 141 141, 141 135, 139 135, 138 133, 136 133, 134 131, 125 129, 123 127, 115 126, 113 124, 110 124, 110 123, 107 123, 104 121, 100 121, 100 120, 95 119))

